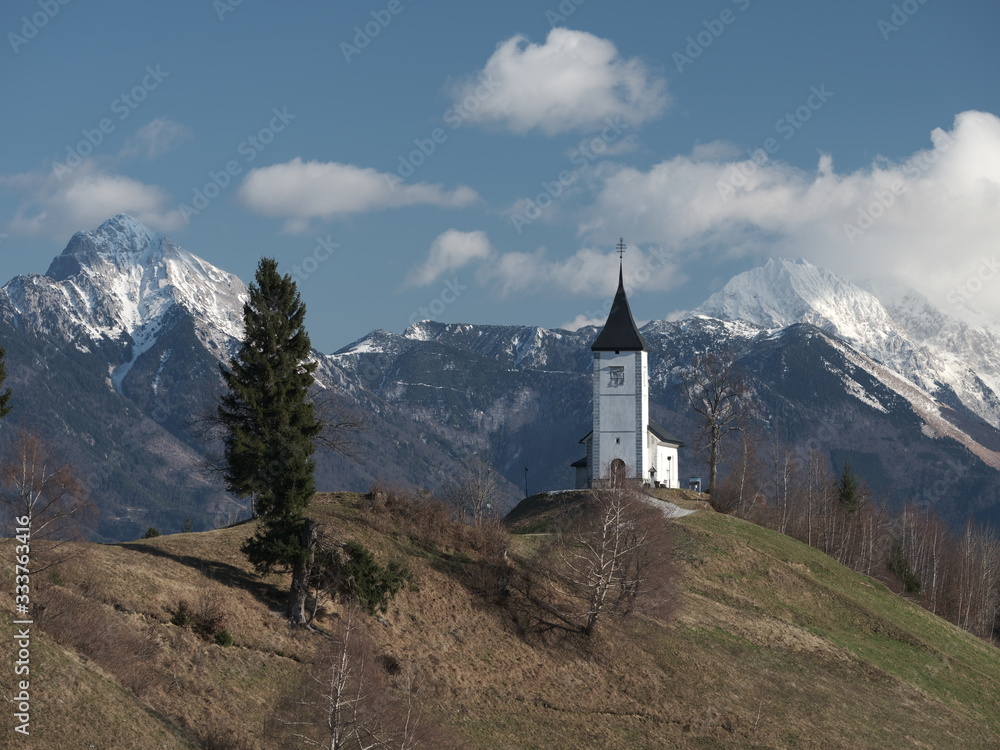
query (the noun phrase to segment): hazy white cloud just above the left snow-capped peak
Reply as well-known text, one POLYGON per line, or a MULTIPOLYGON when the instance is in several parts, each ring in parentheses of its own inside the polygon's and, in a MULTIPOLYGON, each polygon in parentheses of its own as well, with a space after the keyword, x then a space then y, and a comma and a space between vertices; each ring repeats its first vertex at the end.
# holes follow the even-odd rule
POLYGON ((61 172, 61 177, 43 170, 0 177, 0 187, 21 196, 9 231, 65 240, 118 213, 161 231, 184 226, 170 195, 157 185, 107 172, 93 160, 61 172))

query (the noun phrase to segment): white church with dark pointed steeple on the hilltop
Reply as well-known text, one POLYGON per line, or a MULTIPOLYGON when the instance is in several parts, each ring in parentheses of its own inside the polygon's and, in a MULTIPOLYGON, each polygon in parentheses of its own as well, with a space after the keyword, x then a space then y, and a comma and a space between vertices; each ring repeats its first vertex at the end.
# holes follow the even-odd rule
MULTIPOLYGON (((625 251, 618 243, 619 258, 625 251)), ((580 442, 587 455, 572 464, 577 489, 611 471, 642 478, 651 487, 680 487, 677 449, 683 443, 649 418, 649 346, 625 296, 621 261, 618 291, 594 352, 594 429, 580 442)))

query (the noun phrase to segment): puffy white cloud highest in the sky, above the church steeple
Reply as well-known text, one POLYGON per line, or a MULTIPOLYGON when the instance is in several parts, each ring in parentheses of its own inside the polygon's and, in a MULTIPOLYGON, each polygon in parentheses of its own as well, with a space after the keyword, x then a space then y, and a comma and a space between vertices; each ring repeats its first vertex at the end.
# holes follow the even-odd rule
POLYGON ((562 28, 552 29, 545 44, 521 35, 502 42, 453 96, 467 119, 547 135, 604 127, 609 118, 637 125, 668 101, 663 80, 639 60, 619 57, 606 39, 562 28))

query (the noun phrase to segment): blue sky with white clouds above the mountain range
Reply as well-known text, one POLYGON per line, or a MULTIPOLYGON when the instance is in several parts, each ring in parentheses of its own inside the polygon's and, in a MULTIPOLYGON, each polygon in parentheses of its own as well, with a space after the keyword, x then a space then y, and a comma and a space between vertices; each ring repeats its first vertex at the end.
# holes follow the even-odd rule
POLYGON ((2 275, 125 212, 245 280, 276 257, 322 351, 601 319, 620 236, 643 320, 771 256, 1000 314, 997 28, 981 0, 12 0, 2 275))

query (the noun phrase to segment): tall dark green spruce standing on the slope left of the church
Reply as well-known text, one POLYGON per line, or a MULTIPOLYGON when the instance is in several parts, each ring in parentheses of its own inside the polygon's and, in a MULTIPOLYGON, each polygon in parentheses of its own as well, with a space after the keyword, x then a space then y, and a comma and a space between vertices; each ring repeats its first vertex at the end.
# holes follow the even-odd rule
POLYGON ((291 571, 288 616, 306 621, 314 524, 305 517, 315 492, 314 440, 322 429, 308 399, 316 364, 295 282, 262 258, 243 306, 246 332, 222 367, 227 386, 218 409, 225 428, 226 488, 249 497, 258 528, 243 553, 261 574, 291 571))

